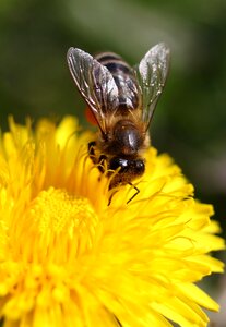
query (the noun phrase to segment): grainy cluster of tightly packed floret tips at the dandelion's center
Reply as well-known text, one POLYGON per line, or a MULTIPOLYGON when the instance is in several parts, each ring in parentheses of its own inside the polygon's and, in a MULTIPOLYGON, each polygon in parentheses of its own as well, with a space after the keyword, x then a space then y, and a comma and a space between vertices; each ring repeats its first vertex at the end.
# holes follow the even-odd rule
POLYGON ((31 217, 37 223, 40 234, 51 231, 52 234, 81 232, 84 225, 93 221, 94 209, 84 197, 74 197, 64 190, 50 187, 43 191, 32 203, 31 217))

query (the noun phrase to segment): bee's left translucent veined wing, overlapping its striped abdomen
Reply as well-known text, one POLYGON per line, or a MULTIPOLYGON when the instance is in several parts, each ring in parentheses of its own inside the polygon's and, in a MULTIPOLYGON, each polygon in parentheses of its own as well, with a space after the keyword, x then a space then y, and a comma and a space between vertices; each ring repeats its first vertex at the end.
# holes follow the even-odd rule
POLYGON ((118 88, 112 75, 83 50, 70 48, 67 60, 76 87, 94 113, 102 133, 106 135, 110 113, 118 106, 118 88))

